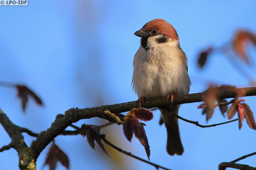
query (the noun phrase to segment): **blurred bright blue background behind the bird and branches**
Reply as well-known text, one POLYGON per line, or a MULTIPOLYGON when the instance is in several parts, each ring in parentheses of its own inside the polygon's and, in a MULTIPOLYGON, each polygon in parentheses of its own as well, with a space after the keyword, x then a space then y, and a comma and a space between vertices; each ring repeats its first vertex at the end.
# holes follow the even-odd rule
MULTIPOLYGON (((137 100, 131 80, 132 61, 140 38, 134 32, 155 18, 167 20, 177 30, 181 48, 188 57, 190 93, 202 92, 209 84, 249 86, 248 79, 223 55, 214 54, 204 69, 198 69, 196 61, 201 50, 230 41, 239 28, 255 33, 255 7, 255 0, 30 0, 28 6, 0 6, 0 81, 27 85, 44 102, 44 106, 39 107, 30 100, 23 114, 17 91, 0 87, 0 108, 16 125, 39 133, 50 127, 58 113, 69 108, 137 100)), ((255 57, 255 48, 249 46, 249 53, 255 57)), ((239 64, 255 74, 255 67, 239 64)), ((256 97, 245 99, 256 113, 256 97)), ((216 109, 207 123, 198 105, 200 103, 182 105, 179 115, 203 125, 227 121, 216 109)), ((246 122, 241 130, 238 122, 203 129, 179 120, 185 152, 183 156, 169 156, 165 151, 166 130, 158 125, 159 116, 160 112, 155 111, 154 119, 145 126, 150 159, 169 169, 215 170, 221 162, 256 151, 256 132, 249 129, 246 122)), ((104 122, 93 118, 75 124, 104 122)), ((111 125, 102 133, 116 146, 147 159, 137 139, 133 138, 131 143, 125 139, 122 126, 111 125)), ((35 138, 23 134, 30 145, 35 138)), ((3 128, 0 136, 0 147, 10 142, 3 128)), ((98 146, 96 151, 92 150, 86 138, 79 135, 58 136, 55 143, 68 155, 70 170, 155 169, 105 145, 109 158, 98 146)), ((49 169, 43 167, 48 150, 49 146, 37 159, 37 169, 49 169)), ((255 167, 255 156, 238 163, 255 167)), ((0 153, 0 169, 18 169, 14 149, 0 153)), ((58 163, 56 169, 66 168, 58 163)))

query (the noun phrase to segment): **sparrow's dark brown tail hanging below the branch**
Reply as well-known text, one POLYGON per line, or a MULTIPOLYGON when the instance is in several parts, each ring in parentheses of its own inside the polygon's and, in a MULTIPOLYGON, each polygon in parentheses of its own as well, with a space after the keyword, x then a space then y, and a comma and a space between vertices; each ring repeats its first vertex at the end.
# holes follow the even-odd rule
MULTIPOLYGON (((173 107, 165 106, 159 108, 161 111, 160 122, 164 122, 165 128, 167 129, 167 145, 166 150, 170 155, 182 155, 184 148, 180 139, 180 130, 178 125, 178 118, 173 114, 178 115, 180 105, 173 105, 173 107)), ((161 124, 161 123, 160 123, 161 124)))

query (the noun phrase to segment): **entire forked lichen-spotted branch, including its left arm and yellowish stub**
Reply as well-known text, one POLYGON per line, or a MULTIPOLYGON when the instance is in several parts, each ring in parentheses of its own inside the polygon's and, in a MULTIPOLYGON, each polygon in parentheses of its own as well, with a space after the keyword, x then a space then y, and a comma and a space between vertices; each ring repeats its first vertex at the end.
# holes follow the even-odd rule
MULTIPOLYGON (((245 96, 256 95, 256 87, 243 88, 243 90, 246 91, 245 96)), ((237 89, 218 91, 217 98, 218 99, 235 98, 237 95, 236 91, 237 89)), ((177 96, 174 96, 173 104, 202 102, 204 95, 205 95, 205 92, 187 94, 187 95, 177 95, 177 96)), ((167 98, 156 98, 156 99, 149 99, 144 101, 144 107, 149 109, 155 108, 155 107, 167 106, 167 105, 171 105, 171 101, 168 102, 167 98)), ((36 133, 33 133, 30 130, 27 130, 25 128, 20 128, 14 125, 2 111, 0 112, 0 123, 2 124, 2 126, 4 127, 6 132, 9 134, 12 141, 14 142, 13 143, 14 149, 16 149, 19 154, 20 162, 23 163, 24 160, 26 160, 27 162, 32 163, 31 165, 35 166, 35 162, 39 154, 56 136, 60 135, 61 133, 71 133, 71 132, 67 132, 67 131, 63 132, 63 131, 68 126, 72 125, 72 123, 78 122, 81 119, 101 117, 101 118, 108 118, 112 122, 121 124, 122 121, 118 119, 119 113, 127 112, 132 108, 139 108, 139 107, 140 107, 139 103, 136 101, 133 101, 133 102, 126 102, 126 103, 119 103, 115 105, 99 106, 94 108, 85 108, 85 109, 71 108, 65 112, 65 115, 62 115, 62 114, 57 115, 55 121, 52 123, 50 128, 47 129, 46 131, 40 132, 40 134, 38 135, 36 133), (22 132, 26 132, 31 136, 37 136, 37 139, 32 142, 30 148, 26 145, 26 143, 24 143, 23 136, 21 134, 22 132), (21 150, 23 150, 23 152, 21 152, 21 150), (32 157, 24 159, 23 153, 30 153, 30 156, 32 157)), ((28 163, 26 165, 28 165, 28 163)), ((33 167, 30 169, 33 169, 33 167)))

